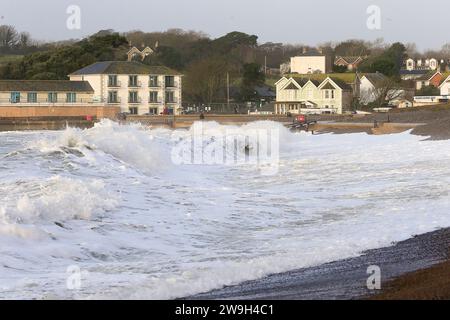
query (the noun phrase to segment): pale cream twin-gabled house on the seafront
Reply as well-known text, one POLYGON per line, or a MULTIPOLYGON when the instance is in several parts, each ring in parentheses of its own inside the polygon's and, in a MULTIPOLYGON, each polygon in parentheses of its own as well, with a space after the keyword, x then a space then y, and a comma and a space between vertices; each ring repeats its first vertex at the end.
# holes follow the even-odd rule
POLYGON ((340 79, 283 77, 275 85, 275 114, 342 114, 351 110, 352 87, 340 79))

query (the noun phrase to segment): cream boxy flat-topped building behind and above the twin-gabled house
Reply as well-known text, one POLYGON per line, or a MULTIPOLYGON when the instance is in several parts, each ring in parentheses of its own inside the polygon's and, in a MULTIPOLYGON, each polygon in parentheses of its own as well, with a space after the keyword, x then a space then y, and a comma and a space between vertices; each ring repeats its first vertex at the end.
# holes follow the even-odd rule
POLYGON ((331 57, 321 50, 306 51, 295 57, 291 57, 291 73, 328 73, 332 70, 331 57))

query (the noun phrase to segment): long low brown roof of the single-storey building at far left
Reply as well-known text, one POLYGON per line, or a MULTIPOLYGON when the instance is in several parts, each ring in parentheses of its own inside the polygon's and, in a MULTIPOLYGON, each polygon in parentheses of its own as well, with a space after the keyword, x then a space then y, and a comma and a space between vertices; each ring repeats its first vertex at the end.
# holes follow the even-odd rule
POLYGON ((0 80, 0 91, 94 92, 87 81, 70 80, 0 80))

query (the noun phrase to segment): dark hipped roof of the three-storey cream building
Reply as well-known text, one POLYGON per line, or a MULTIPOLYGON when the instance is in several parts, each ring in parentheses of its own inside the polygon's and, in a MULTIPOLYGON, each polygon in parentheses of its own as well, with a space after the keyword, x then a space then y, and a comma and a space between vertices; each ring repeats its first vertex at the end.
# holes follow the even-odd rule
POLYGON ((77 70, 70 75, 86 74, 161 74, 181 75, 164 66, 149 66, 136 61, 101 61, 77 70))

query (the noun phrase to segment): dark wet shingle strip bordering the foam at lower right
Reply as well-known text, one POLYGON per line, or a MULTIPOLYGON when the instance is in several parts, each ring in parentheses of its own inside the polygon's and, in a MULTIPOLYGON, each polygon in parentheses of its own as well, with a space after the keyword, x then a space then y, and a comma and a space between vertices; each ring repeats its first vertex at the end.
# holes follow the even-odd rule
MULTIPOLYGON (((450 229, 442 229, 416 236, 391 247, 369 250, 359 257, 274 274, 187 299, 345 300, 370 297, 384 299, 388 297, 382 296, 385 293, 383 288, 386 292, 397 290, 396 282, 393 283, 392 280, 401 281, 400 276, 411 276, 409 273, 418 270, 430 272, 433 269, 427 268, 445 263, 449 247, 450 229), (367 289, 366 282, 369 276, 367 268, 371 265, 377 265, 381 269, 381 292, 367 289)), ((439 282, 436 286, 439 287, 439 282)), ((426 292, 423 294, 426 296, 426 292)))

